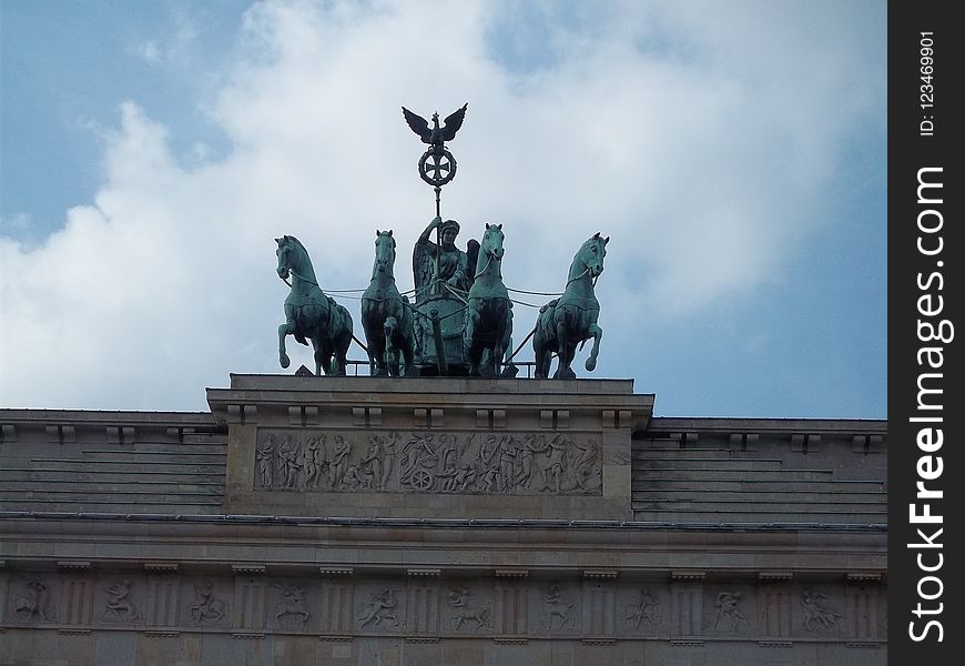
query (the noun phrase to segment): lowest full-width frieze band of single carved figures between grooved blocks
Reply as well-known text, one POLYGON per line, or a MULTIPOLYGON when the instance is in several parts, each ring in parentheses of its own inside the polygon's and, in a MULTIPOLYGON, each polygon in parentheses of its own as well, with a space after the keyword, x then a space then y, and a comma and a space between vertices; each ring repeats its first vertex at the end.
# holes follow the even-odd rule
POLYGON ((356 572, 323 576, 237 572, 13 571, 3 627, 344 638, 426 636, 593 639, 886 639, 886 588, 834 579, 750 576, 676 579, 666 572, 611 579, 536 572, 356 572))

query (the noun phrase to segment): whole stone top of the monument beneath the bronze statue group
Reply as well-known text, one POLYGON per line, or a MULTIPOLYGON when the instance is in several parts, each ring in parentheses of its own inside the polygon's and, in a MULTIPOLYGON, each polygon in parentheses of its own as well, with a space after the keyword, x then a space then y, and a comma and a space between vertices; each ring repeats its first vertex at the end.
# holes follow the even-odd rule
POLYGON ((0 665, 886 662, 886 423, 232 375, 0 411, 0 665))

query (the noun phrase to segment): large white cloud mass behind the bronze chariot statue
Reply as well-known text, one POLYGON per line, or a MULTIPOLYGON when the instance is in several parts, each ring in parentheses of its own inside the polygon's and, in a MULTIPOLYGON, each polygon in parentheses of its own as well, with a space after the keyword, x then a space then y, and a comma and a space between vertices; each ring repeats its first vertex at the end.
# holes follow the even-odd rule
MULTIPOLYGON (((392 228, 407 289, 434 203, 399 107, 465 101, 444 214, 463 242, 504 223, 504 274, 522 289, 561 289, 579 244, 610 235, 596 375, 626 375, 608 344, 779 270, 819 224, 840 138, 877 111, 882 72, 853 69, 866 54, 834 6, 771 6, 602 4, 592 23, 549 11, 548 54, 520 69, 492 51, 508 18, 490 2, 254 6, 212 79, 226 157, 180 164, 167 129, 125 103, 95 201, 40 248, 0 238, 0 403, 203 408, 201 387, 228 372, 275 372, 283 233, 323 286, 347 289, 367 283, 374 230, 392 228)), ((534 317, 517 307, 517 340, 534 317)))

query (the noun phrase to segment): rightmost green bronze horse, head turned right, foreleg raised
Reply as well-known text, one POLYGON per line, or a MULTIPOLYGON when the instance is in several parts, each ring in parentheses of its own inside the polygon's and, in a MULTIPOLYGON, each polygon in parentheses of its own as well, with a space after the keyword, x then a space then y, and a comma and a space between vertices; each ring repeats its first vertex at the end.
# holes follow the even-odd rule
POLYGON ((593 294, 593 283, 603 272, 603 258, 610 238, 601 239, 599 233, 585 242, 573 256, 563 294, 539 309, 532 350, 536 354, 536 376, 549 376, 549 365, 553 352, 559 356, 555 379, 571 380, 576 374, 570 369, 577 345, 593 339, 593 349, 587 359, 587 371, 597 366, 600 339, 603 330, 597 325, 600 302, 593 294))

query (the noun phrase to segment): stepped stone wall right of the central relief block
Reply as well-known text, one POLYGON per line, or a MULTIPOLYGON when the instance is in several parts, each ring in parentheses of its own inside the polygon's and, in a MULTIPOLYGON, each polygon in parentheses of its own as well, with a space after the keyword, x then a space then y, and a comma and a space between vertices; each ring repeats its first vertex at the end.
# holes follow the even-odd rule
POLYGON ((882 421, 653 418, 632 444, 638 521, 887 523, 882 421))

